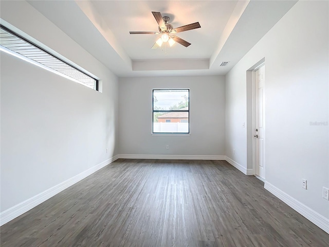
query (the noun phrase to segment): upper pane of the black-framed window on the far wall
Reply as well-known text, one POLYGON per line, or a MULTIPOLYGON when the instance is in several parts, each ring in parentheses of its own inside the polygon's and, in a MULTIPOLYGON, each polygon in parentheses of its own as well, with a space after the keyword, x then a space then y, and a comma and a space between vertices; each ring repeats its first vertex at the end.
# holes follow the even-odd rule
POLYGON ((189 90, 153 90, 153 110, 189 110, 189 90))

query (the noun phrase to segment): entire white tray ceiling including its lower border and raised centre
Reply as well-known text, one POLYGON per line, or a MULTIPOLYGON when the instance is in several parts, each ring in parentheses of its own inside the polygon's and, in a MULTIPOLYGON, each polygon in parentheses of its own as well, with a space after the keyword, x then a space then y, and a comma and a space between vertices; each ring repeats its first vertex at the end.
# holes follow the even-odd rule
POLYGON ((28 1, 120 77, 225 75, 297 1, 28 1), (151 49, 159 38, 152 11, 190 43, 151 49), (229 61, 225 67, 220 64, 229 61))

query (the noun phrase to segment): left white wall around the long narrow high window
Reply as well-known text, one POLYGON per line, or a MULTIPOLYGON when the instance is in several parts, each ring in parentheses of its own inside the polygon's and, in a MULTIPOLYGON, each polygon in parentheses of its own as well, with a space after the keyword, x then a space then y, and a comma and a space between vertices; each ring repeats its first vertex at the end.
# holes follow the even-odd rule
POLYGON ((3 213, 118 154, 118 78, 26 2, 1 7, 3 20, 102 80, 100 93, 1 52, 3 213))

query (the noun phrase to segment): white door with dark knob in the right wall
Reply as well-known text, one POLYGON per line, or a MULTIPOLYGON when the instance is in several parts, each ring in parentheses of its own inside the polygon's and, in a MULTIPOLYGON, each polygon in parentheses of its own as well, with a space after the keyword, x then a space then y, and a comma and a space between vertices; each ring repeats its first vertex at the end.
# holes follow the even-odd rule
POLYGON ((265 180, 265 65, 255 72, 256 79, 256 174, 265 180))

